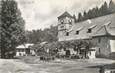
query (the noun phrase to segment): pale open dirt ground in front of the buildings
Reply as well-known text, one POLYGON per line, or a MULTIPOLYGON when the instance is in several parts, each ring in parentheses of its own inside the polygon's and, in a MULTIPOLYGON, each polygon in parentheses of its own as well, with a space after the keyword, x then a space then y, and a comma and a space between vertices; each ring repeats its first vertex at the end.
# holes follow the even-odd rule
POLYGON ((99 73, 98 68, 89 68, 115 63, 114 60, 59 60, 51 62, 39 61, 37 58, 0 59, 0 73, 99 73), (31 60, 29 62, 29 60, 31 60), (33 63, 32 63, 33 62, 33 63))

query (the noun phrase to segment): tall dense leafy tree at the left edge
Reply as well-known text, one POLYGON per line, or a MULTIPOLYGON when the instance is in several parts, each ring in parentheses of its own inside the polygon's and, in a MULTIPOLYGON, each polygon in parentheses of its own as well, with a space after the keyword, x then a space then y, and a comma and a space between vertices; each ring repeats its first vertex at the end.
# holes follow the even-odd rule
POLYGON ((24 20, 14 0, 1 1, 1 58, 13 58, 16 46, 24 43, 24 20))

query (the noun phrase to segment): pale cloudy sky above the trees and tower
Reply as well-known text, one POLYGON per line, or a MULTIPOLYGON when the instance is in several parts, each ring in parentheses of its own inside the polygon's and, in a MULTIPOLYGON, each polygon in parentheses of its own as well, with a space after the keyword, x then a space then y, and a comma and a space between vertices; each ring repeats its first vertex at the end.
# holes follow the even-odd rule
MULTIPOLYGON (((17 0, 26 30, 48 28, 57 24, 57 17, 65 11, 77 16, 78 12, 101 6, 109 0, 17 0)), ((115 0, 113 0, 115 2, 115 0)))

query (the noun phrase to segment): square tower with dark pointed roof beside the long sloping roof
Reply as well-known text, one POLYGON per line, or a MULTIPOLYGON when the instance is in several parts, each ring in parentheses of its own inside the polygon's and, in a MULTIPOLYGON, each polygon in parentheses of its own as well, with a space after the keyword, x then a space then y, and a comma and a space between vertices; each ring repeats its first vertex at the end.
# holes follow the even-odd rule
POLYGON ((58 17, 58 38, 69 36, 69 30, 75 22, 74 17, 67 11, 58 17))

